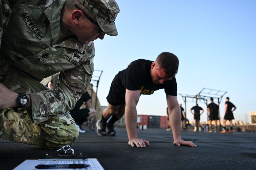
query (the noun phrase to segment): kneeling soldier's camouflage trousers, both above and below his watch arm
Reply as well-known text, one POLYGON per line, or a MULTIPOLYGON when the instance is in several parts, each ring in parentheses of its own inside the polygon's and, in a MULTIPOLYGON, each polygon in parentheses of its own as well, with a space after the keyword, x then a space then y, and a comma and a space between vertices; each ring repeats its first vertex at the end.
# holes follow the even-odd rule
MULTIPOLYGON (((37 80, 22 75, 12 65, 0 58, 0 83, 20 93, 47 90, 37 80)), ((0 110, 0 137, 6 140, 36 145, 46 149, 72 146, 78 137, 78 128, 69 112, 49 115, 49 119, 35 125, 29 109, 0 110)))

